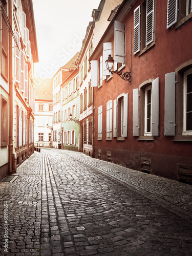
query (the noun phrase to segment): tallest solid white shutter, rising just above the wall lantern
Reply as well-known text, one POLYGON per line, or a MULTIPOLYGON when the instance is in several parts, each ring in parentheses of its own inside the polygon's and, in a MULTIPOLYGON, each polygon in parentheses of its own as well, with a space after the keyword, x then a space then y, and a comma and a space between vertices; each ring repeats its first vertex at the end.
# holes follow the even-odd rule
POLYGON ((124 64, 124 41, 125 41, 125 26, 115 20, 115 56, 114 60, 124 64))

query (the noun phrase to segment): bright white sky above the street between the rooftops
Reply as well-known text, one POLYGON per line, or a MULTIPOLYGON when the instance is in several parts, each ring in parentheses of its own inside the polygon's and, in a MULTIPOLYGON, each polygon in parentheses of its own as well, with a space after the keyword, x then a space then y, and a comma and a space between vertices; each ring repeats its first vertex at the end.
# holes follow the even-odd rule
POLYGON ((34 76, 52 78, 81 49, 100 0, 33 0, 39 63, 34 76))

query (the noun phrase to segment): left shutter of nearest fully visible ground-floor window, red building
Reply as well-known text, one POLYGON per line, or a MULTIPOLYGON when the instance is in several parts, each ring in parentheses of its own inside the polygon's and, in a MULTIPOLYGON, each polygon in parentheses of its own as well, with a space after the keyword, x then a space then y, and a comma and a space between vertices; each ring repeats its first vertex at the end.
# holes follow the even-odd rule
POLYGON ((133 136, 139 136, 139 89, 133 90, 133 136))

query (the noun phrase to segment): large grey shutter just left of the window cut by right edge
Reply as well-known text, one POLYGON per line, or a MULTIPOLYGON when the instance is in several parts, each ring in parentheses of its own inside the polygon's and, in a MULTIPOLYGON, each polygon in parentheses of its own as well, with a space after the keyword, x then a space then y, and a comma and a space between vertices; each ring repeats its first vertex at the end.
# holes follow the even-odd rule
POLYGON ((175 72, 165 74, 164 135, 175 135, 175 72))

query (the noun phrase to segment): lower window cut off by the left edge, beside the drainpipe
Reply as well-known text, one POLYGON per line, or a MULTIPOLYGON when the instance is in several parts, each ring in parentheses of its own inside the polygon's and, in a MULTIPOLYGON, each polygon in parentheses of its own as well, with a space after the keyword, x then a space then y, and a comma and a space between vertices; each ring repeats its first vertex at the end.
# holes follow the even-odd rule
POLYGON ((8 100, 1 95, 1 146, 8 145, 8 100))

